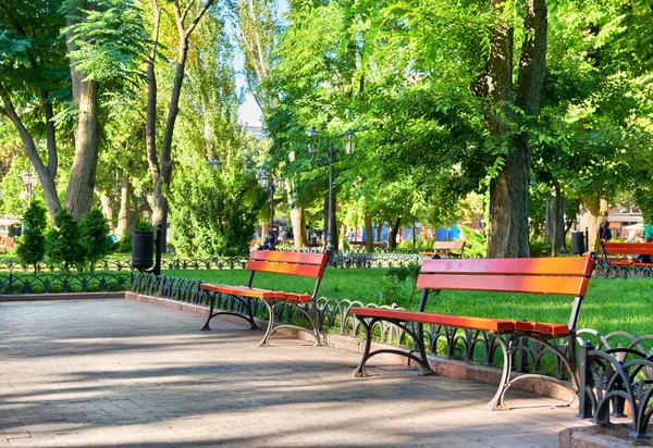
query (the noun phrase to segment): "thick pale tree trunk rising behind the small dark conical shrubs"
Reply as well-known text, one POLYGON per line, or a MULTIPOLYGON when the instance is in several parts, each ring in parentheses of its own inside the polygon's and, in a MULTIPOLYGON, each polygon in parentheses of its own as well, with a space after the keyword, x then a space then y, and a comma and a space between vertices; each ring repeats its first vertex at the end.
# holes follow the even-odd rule
MULTIPOLYGON (((81 4, 83 8, 95 8, 95 3, 93 2, 78 1, 76 3, 75 5, 81 4)), ((67 26, 76 22, 76 18, 72 18, 76 14, 77 11, 72 11, 71 16, 66 17, 67 26)), ((72 38, 72 35, 66 35, 69 53, 76 50, 72 38)), ((65 191, 65 208, 77 221, 81 221, 88 213, 88 210, 90 210, 100 141, 98 127, 98 84, 85 80, 85 77, 84 74, 77 71, 75 61, 71 59, 73 99, 77 103, 78 112, 77 128, 75 129, 75 155, 73 158, 69 186, 65 191)))

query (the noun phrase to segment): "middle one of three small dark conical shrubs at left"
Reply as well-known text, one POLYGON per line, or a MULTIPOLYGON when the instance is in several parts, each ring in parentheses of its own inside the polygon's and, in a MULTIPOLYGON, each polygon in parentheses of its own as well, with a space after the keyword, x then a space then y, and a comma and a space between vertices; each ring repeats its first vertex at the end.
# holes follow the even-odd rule
POLYGON ((85 250, 79 240, 79 225, 62 209, 54 216, 54 227, 46 235, 46 252, 51 263, 63 263, 64 269, 81 267, 85 261, 85 250))

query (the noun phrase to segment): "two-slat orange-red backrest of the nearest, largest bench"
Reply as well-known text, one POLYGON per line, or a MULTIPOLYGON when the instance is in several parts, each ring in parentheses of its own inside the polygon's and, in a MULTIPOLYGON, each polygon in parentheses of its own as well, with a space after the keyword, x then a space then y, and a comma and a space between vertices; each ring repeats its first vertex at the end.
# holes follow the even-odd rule
POLYGON ((479 290, 575 296, 569 328, 575 329, 580 304, 594 267, 591 257, 541 259, 424 260, 417 287, 429 290, 479 290))

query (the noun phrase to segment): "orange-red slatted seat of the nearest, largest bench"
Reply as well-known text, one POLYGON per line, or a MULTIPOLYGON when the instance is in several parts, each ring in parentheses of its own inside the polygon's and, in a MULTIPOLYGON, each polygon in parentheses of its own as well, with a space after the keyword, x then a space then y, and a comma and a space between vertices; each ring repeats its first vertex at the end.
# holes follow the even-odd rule
POLYGON ((427 313, 419 311, 397 311, 379 308, 352 308, 352 313, 364 318, 383 318, 399 322, 416 322, 428 325, 455 326, 457 328, 485 332, 529 332, 549 336, 565 336, 569 327, 565 324, 510 321, 505 319, 467 318, 452 314, 427 313))

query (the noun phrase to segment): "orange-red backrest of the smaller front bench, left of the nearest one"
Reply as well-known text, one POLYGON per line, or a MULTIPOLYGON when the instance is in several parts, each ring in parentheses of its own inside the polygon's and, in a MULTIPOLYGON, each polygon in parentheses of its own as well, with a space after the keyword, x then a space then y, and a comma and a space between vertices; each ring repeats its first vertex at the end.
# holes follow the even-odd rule
POLYGON ((254 274, 256 272, 271 272, 274 274, 292 274, 303 277, 316 278, 316 287, 312 297, 315 298, 320 287, 320 281, 324 274, 328 253, 299 253, 299 252, 279 252, 273 250, 254 250, 249 256, 246 269, 251 271, 249 283, 251 287, 254 274))

